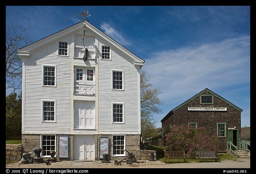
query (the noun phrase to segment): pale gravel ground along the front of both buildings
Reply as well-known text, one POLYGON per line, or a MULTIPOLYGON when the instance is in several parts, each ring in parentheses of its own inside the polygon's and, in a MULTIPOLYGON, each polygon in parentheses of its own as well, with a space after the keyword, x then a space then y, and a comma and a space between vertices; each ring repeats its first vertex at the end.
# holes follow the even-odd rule
POLYGON ((51 162, 51 165, 49 166, 47 166, 45 163, 22 164, 20 162, 16 162, 6 165, 6 168, 250 168, 250 159, 238 159, 236 161, 224 160, 221 162, 184 162, 172 164, 165 164, 164 162, 160 162, 158 160, 139 160, 138 162, 133 162, 132 164, 121 162, 120 165, 116 165, 114 161, 110 161, 110 163, 102 163, 101 161, 60 161, 51 162))

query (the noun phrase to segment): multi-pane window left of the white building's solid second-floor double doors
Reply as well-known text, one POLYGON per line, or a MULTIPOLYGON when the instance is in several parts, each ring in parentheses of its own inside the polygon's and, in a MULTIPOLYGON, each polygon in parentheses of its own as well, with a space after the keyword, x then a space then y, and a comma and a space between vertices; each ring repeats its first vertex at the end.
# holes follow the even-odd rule
POLYGON ((55 120, 55 102, 43 101, 43 121, 55 120))

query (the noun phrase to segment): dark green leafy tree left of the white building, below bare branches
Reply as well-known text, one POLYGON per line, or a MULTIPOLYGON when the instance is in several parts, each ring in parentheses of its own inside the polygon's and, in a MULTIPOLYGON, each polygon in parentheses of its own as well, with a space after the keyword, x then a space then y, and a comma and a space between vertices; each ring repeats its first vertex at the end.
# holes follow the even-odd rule
POLYGON ((5 139, 21 139, 21 94, 5 97, 5 139))

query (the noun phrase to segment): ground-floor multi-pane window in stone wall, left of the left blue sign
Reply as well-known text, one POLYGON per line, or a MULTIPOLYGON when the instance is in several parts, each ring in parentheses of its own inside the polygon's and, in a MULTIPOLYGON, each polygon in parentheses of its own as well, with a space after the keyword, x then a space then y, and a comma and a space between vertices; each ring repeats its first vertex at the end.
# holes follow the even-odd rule
POLYGON ((55 151, 55 135, 42 135, 42 156, 50 156, 55 151))

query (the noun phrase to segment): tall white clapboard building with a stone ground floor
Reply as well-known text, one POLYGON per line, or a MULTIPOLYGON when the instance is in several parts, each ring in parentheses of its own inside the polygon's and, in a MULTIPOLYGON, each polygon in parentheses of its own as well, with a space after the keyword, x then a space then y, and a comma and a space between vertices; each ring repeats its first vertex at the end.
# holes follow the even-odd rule
POLYGON ((87 21, 18 50, 22 145, 63 160, 123 159, 140 147, 144 60, 87 21), (127 151, 125 151, 127 150, 127 151))

